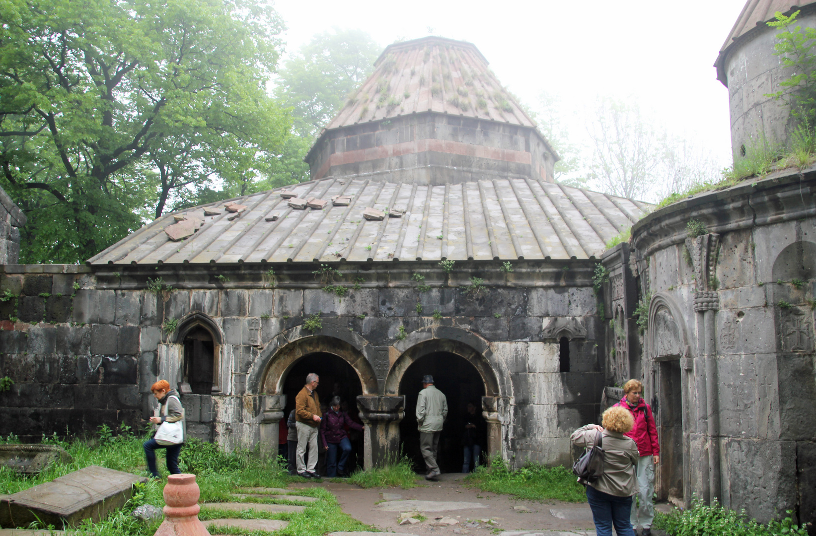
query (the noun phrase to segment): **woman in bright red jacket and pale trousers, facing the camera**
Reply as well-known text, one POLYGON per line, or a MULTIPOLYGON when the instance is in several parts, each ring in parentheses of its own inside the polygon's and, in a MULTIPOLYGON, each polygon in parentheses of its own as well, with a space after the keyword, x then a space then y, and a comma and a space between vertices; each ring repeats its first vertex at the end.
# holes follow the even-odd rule
POLYGON ((643 400, 643 383, 630 379, 623 385, 623 398, 616 404, 632 413, 635 426, 624 435, 631 437, 637 444, 640 459, 635 468, 637 485, 640 491, 636 500, 632 500, 632 529, 637 525, 643 529, 641 536, 651 536, 654 520, 654 466, 660 462, 660 445, 658 429, 654 426, 654 415, 650 405, 643 400))

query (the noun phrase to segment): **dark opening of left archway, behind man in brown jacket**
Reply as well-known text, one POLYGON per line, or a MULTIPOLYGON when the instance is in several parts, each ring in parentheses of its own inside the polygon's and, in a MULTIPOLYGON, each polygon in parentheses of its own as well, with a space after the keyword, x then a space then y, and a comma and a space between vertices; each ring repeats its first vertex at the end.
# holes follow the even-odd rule
MULTIPOLYGON (((300 389, 304 388, 306 375, 312 372, 320 377, 317 396, 320 398, 321 410, 325 413, 331 398, 339 396, 343 401, 341 409, 348 412, 348 416, 354 422, 362 424, 357 410, 357 396, 362 394, 360 378, 348 361, 327 352, 317 352, 302 357, 286 374, 286 380, 283 383, 283 394, 286 395, 286 410, 283 419, 288 419, 291 411, 295 409, 295 396, 298 395, 300 389)), ((352 454, 349 455, 345 468, 348 472, 353 472, 363 467, 362 432, 348 430, 348 439, 352 443, 352 454)), ((317 472, 325 475, 325 453, 322 444, 318 446, 318 450, 321 456, 317 463, 317 472)))

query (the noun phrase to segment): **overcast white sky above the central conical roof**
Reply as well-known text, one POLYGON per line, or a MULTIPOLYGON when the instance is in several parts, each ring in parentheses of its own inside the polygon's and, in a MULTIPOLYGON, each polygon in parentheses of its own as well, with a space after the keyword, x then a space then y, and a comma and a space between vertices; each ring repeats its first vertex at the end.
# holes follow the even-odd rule
MULTIPOLYGON (((712 64, 745 0, 278 0, 290 51, 363 29, 386 46, 429 34, 474 43, 526 104, 541 91, 579 115, 595 95, 632 97, 672 133, 730 163, 728 90, 712 64)), ((583 131, 583 125, 570 125, 583 131)))

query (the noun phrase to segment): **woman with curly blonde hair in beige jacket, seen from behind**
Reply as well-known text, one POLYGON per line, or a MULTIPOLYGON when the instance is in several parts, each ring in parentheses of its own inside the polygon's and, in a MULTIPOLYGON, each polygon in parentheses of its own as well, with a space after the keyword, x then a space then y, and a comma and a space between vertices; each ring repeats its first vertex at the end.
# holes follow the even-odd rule
POLYGON ((588 424, 572 432, 574 445, 595 445, 597 432, 601 432, 601 448, 604 450, 604 472, 598 480, 587 486, 587 500, 592 508, 597 536, 612 536, 612 526, 618 536, 634 536, 629 513, 632 511, 632 495, 637 493, 635 467, 640 458, 635 441, 623 434, 632 429, 632 414, 619 406, 613 406, 603 414, 603 427, 588 424))

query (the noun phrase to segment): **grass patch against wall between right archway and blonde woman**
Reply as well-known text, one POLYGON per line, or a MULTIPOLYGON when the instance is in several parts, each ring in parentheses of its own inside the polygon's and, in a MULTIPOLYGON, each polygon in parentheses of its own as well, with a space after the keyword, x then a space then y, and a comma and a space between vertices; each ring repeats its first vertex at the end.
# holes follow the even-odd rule
POLYGON ((556 499, 567 503, 585 503, 583 486, 566 467, 545 467, 528 463, 511 469, 502 458, 493 458, 490 467, 477 467, 467 477, 468 485, 494 494, 508 494, 527 500, 556 499))

